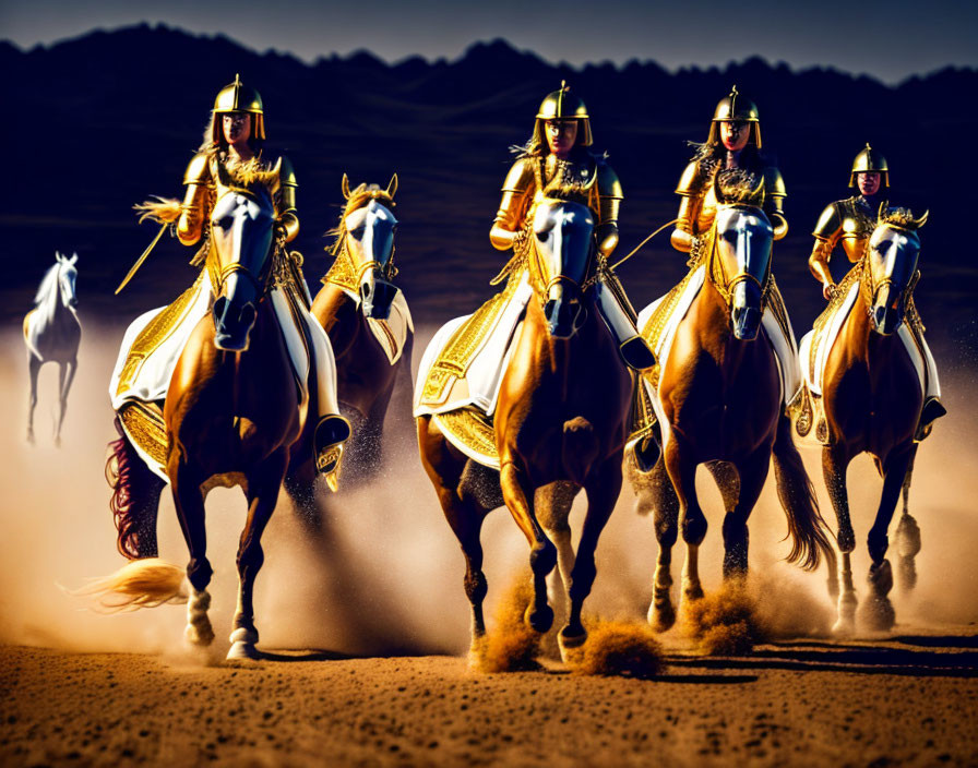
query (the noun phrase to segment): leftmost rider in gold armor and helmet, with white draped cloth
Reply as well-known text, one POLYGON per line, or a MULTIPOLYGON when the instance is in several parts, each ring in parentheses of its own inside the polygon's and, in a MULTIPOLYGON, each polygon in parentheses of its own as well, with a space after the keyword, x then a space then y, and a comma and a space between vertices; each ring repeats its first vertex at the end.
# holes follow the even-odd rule
MULTIPOLYGON (((274 165, 266 161, 263 153, 264 140, 261 96, 236 75, 235 81, 222 88, 214 100, 203 143, 183 176, 182 203, 164 200, 136 206, 150 218, 172 224, 182 244, 196 245, 203 240, 191 263, 204 268, 194 286, 174 304, 155 313, 148 325, 144 325, 134 338, 130 338, 130 335, 135 331, 136 324, 131 326, 112 379, 110 394, 117 411, 129 399, 157 400, 165 397, 169 383, 168 372, 176 365, 182 343, 207 311, 214 285, 206 267, 211 251, 210 217, 223 194, 234 187, 265 185, 276 212, 274 247, 283 248, 298 235, 298 183, 293 165, 285 156, 281 156, 274 165), (169 333, 159 334, 160 328, 156 327, 159 323, 166 324, 169 333), (157 333, 152 333, 154 329, 157 333), (147 331, 151 333, 146 333, 147 331), (181 336, 182 339, 179 338, 181 336), (174 344, 175 339, 179 339, 179 344, 174 344)), ((318 380, 319 422, 313 439, 315 466, 326 475, 327 480, 333 479, 330 483, 333 488, 338 473, 342 446, 349 436, 349 424, 338 415, 336 368, 329 338, 309 312, 309 290, 298 268, 299 264, 291 263, 290 266, 282 288, 288 297, 291 314, 306 326, 318 380)))

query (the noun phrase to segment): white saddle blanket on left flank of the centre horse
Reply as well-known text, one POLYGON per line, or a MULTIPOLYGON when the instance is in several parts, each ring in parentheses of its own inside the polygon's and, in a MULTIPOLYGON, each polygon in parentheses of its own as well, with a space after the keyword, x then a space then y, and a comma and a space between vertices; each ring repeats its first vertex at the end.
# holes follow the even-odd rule
POLYGON ((465 373, 465 379, 457 381, 452 387, 449 397, 437 407, 422 406, 421 398, 428 372, 454 333, 472 315, 450 320, 438 329, 438 333, 434 334, 434 337, 425 349, 421 365, 418 369, 417 386, 415 387, 414 413, 416 417, 444 413, 466 406, 476 406, 488 416, 492 416, 496 411, 502 376, 506 370, 506 363, 509 363, 510 341, 516 335, 520 317, 532 296, 533 288, 529 286, 529 277, 524 273, 523 279, 520 281, 516 290, 513 291, 513 296, 496 317, 496 322, 486 334, 481 347, 473 357, 472 363, 465 373))

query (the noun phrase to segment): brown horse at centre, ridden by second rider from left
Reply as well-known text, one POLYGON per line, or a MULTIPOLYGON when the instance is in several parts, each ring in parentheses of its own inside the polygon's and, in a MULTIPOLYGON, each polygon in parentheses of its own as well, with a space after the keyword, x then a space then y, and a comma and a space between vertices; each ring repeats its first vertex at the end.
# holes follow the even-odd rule
POLYGON ((559 560, 570 601, 561 648, 586 639, 581 610, 596 575, 598 537, 621 490, 632 388, 588 287, 596 268, 593 241, 586 206, 559 200, 537 205, 524 254, 535 297, 512 341, 490 428, 499 471, 451 443, 439 417, 418 418, 421 463, 465 555, 474 650, 486 633, 480 530, 488 512, 503 503, 532 550, 534 598, 526 623, 540 633, 552 625, 546 578, 559 560), (575 556, 568 515, 582 488, 588 505, 575 556))

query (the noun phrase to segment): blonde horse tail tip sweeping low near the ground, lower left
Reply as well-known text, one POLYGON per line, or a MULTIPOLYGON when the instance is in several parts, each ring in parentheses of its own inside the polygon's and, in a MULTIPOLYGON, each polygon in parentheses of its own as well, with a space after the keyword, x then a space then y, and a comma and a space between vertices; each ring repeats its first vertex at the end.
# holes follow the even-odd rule
POLYGON ((159 557, 144 557, 127 563, 109 576, 93 579, 71 595, 91 598, 98 611, 117 613, 187 602, 187 584, 184 568, 159 557))

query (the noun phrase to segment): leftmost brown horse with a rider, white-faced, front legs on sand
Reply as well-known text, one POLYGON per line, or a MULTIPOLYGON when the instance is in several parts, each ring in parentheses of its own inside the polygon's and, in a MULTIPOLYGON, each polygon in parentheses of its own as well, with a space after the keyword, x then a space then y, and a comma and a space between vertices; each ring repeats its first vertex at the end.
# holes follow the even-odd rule
MULTIPOLYGON (((255 658, 252 591, 264 555, 262 532, 272 516, 290 451, 315 409, 315 387, 300 399, 279 317, 290 315, 287 290, 291 266, 283 249, 272 247, 275 209, 264 189, 234 190, 222 196, 211 216, 212 252, 207 272, 214 285, 211 316, 200 320, 183 347, 163 407, 163 464, 174 492, 190 563, 186 636, 208 645, 206 591, 212 568, 206 557, 204 500, 217 485, 239 484, 248 500, 248 518, 238 549, 240 589, 228 658, 255 658), (277 310, 274 304, 283 304, 277 310)), ((314 375, 311 374, 311 375, 314 375)), ((123 417, 124 421, 124 417, 123 417)), ((126 436, 122 437, 127 440, 126 436)), ((311 454, 311 445, 303 449, 311 454)), ((124 454, 123 454, 124 455, 124 454)), ((130 457, 131 458, 131 457, 130 457)), ((133 460, 120 472, 140 472, 133 460)), ((120 550, 138 556, 98 585, 116 604, 154 605, 186 597, 184 569, 156 559, 156 504, 160 481, 130 483, 132 499, 122 504, 120 550), (155 494, 155 495, 154 495, 155 494)))

